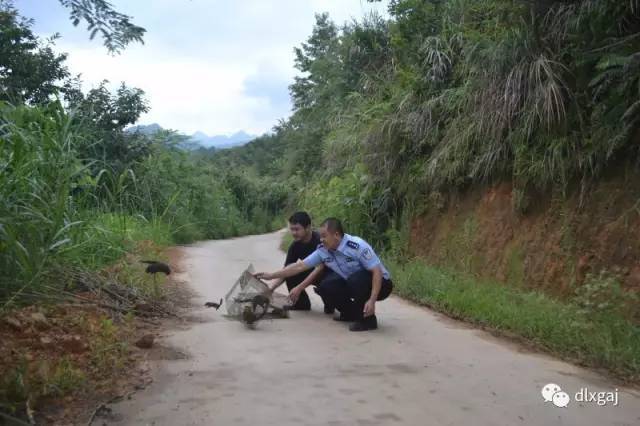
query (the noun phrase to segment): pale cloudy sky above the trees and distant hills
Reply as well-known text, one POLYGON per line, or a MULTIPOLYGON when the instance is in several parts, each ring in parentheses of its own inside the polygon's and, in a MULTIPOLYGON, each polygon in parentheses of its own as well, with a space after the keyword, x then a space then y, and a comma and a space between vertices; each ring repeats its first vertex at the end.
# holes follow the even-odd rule
POLYGON ((146 92, 151 111, 140 124, 192 134, 262 134, 291 113, 288 86, 298 73, 293 48, 313 29, 316 13, 337 24, 361 19, 386 1, 366 0, 111 0, 147 30, 144 45, 111 56, 102 40, 73 27, 58 0, 14 0, 43 38, 59 33, 83 90, 109 80, 146 92))

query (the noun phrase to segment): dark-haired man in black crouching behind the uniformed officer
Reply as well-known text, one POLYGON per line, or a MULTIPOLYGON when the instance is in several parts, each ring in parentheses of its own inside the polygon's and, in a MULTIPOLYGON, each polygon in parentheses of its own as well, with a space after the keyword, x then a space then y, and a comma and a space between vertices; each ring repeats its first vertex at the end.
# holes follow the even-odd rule
MULTIPOLYGON (((320 235, 311 228, 311 218, 306 212, 297 212, 289 218, 289 231, 293 236, 293 242, 287 250, 287 258, 284 266, 296 263, 298 260, 305 259, 313 253, 320 244, 320 235)), ((289 290, 296 287, 305 278, 311 274, 312 270, 304 271, 293 277, 286 279, 287 288, 289 290)), ((284 279, 277 280, 271 290, 275 290, 284 282, 284 279)), ((306 292, 302 292, 296 303, 293 305, 294 310, 309 311, 311 310, 311 300, 306 292)), ((333 309, 325 306, 325 312, 333 313, 333 309), (329 312, 330 311, 330 312, 329 312)))

